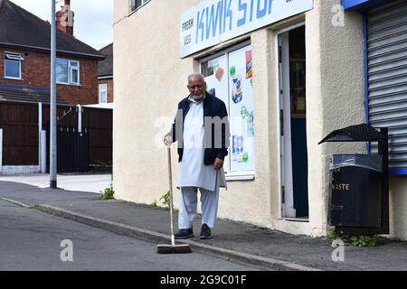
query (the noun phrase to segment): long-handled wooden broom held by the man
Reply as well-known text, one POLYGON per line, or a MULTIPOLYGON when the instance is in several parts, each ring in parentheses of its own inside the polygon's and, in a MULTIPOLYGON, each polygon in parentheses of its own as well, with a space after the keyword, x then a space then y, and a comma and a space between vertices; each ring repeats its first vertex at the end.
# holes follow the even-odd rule
POLYGON ((168 144, 168 179, 170 188, 170 223, 171 223, 171 245, 161 244, 157 245, 156 253, 158 254, 182 254, 182 253, 192 253, 191 248, 188 244, 175 245, 174 236, 174 212, 173 212, 173 176, 171 172, 171 144, 168 144))

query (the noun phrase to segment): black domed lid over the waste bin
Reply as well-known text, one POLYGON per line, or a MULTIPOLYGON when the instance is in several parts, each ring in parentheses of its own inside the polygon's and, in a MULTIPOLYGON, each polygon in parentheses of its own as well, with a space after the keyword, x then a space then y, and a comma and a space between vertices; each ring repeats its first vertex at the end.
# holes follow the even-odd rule
POLYGON ((337 129, 327 135, 318 144, 325 142, 374 142, 384 139, 384 136, 374 127, 361 124, 337 129))

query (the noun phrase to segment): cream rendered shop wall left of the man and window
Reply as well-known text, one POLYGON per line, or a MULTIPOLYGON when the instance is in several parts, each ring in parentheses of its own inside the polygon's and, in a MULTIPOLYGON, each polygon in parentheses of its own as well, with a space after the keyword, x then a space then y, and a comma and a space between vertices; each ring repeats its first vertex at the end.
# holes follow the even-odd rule
MULTIPOLYGON (((168 190, 162 137, 185 95, 191 59, 179 55, 179 19, 185 1, 151 1, 128 14, 127 0, 115 1, 114 185, 118 198, 152 203, 168 190)), ((194 5, 199 1, 190 1, 194 5)), ((173 169, 176 177, 175 150, 173 169)), ((175 180, 174 177, 174 180, 175 180)), ((175 190, 176 191, 176 190, 175 190)))

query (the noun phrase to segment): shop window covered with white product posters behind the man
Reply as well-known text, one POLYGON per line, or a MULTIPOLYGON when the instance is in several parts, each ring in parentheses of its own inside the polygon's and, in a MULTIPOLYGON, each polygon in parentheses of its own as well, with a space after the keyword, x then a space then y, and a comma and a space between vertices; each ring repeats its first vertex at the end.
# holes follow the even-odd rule
POLYGON ((231 125, 227 176, 254 175, 253 81, 251 45, 201 61, 208 92, 225 103, 231 125))

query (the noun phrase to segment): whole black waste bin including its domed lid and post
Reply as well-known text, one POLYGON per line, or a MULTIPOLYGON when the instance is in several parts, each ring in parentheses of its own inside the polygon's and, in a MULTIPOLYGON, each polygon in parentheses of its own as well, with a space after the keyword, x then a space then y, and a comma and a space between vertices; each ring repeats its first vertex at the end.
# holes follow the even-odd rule
POLYGON ((340 235, 389 233, 388 130, 348 126, 325 142, 378 142, 379 154, 333 154, 328 223, 340 235))

